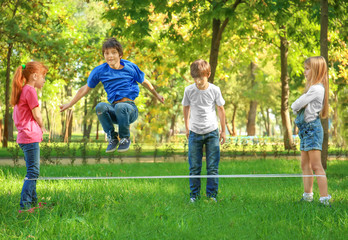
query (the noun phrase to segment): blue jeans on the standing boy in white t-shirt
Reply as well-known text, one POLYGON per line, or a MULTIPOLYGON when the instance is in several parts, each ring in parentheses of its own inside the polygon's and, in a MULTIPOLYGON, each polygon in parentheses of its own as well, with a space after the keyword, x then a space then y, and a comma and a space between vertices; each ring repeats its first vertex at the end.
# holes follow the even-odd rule
MULTIPOLYGON (((216 129, 207 134, 197 134, 190 131, 188 160, 190 164, 190 175, 201 175, 203 145, 206 149, 207 175, 218 175, 220 162, 219 131, 216 129)), ((207 179, 207 197, 216 197, 218 193, 218 178, 207 179)), ((200 196, 201 179, 190 178, 190 196, 200 196)))

